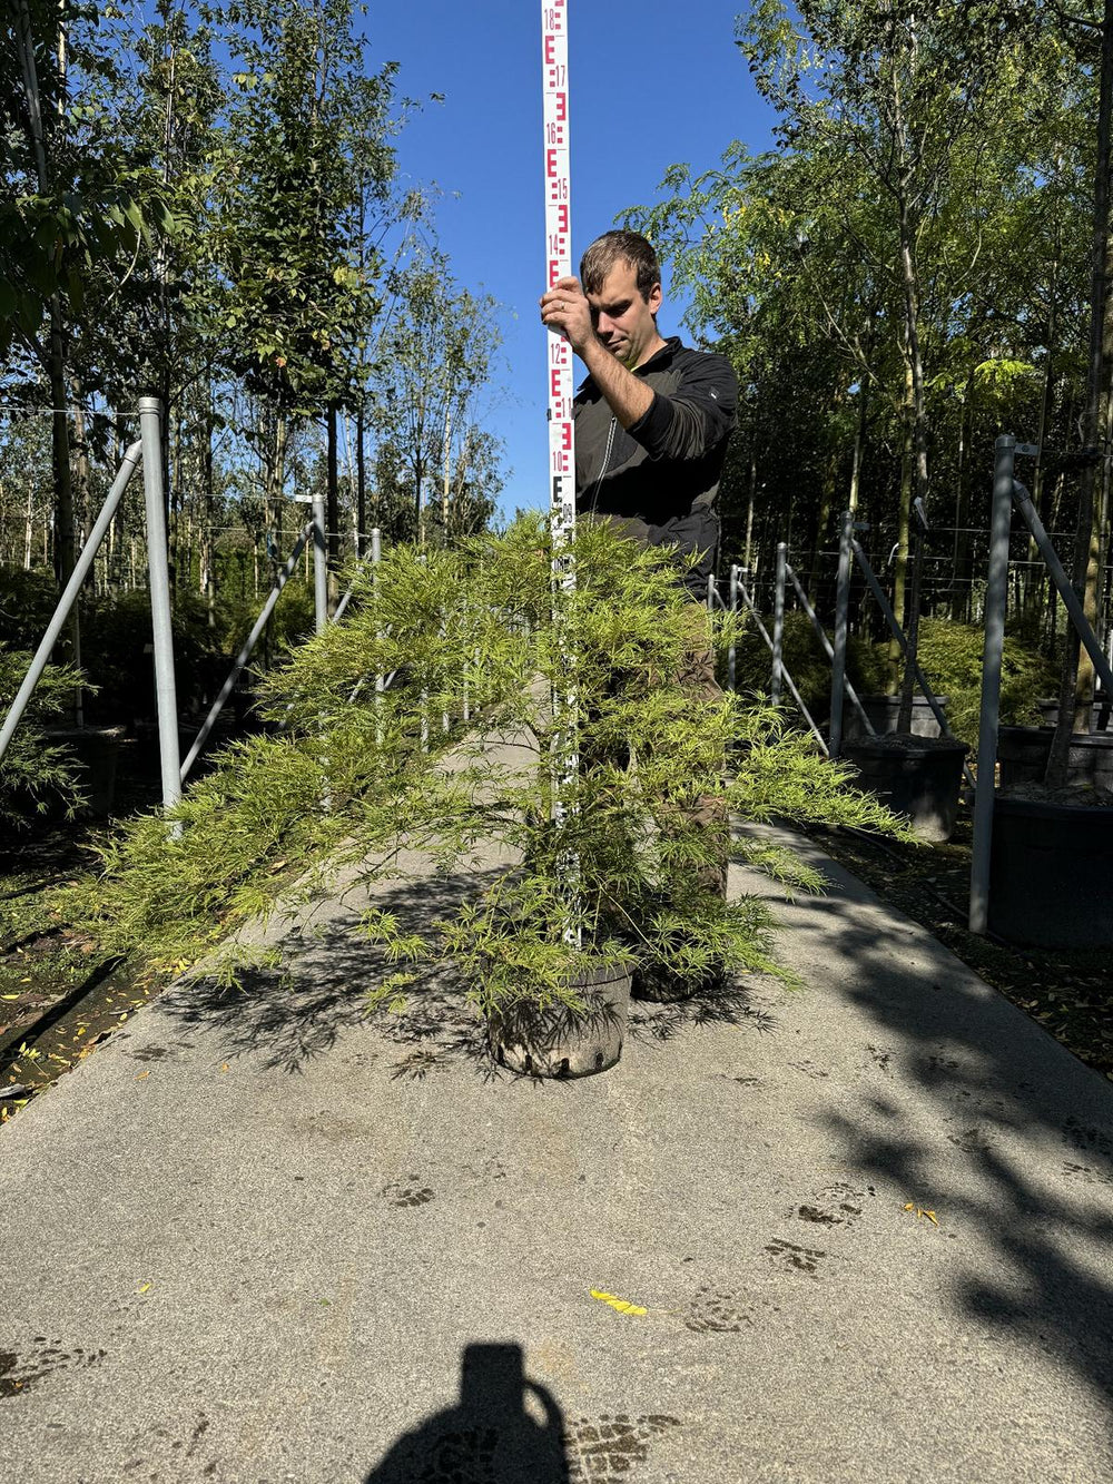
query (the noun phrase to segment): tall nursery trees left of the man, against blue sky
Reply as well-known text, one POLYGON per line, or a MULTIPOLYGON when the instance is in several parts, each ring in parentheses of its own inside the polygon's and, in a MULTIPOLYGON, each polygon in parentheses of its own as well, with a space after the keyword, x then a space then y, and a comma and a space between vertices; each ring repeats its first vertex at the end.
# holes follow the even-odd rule
MULTIPOLYGON (((71 570, 142 395, 166 410, 175 600, 212 623, 221 588, 270 588, 315 493, 334 571, 374 525, 435 543, 490 516, 497 306, 454 282, 429 194, 398 180, 421 104, 355 12, 9 0, 0 568, 71 570)), ((93 589, 144 574, 137 479, 93 589)))

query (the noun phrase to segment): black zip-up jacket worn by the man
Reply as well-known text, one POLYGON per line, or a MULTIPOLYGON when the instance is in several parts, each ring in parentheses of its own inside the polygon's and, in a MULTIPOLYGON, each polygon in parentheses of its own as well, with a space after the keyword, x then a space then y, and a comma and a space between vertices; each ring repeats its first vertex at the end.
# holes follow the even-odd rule
POLYGON ((705 601, 718 545, 715 496, 738 405, 735 368, 674 335, 634 375, 654 396, 629 429, 591 377, 576 393, 576 510, 608 516, 628 536, 675 546, 681 556, 697 551, 684 585, 705 601))

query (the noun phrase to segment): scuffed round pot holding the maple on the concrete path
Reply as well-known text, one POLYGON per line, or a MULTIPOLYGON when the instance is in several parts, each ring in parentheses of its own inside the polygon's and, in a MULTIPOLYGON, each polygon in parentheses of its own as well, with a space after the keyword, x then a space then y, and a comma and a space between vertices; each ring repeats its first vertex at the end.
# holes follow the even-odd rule
POLYGON ((534 1077, 589 1077, 614 1066, 626 1034, 629 972, 605 965, 568 987, 583 1000, 582 1014, 531 1000, 491 1011, 487 1033, 500 1067, 534 1077))

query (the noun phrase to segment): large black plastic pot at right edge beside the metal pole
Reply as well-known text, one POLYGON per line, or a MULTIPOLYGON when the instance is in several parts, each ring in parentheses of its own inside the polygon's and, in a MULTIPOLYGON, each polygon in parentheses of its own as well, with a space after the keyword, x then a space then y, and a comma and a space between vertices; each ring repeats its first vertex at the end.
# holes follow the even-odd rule
POLYGON ((1113 947, 1113 809, 997 795, 990 930, 1033 948, 1113 947))

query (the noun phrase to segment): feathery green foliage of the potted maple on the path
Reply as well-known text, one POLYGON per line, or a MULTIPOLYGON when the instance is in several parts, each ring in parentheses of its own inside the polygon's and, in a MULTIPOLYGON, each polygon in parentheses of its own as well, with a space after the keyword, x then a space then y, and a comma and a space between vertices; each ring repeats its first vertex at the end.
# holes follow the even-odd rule
POLYGON ((396 1000, 414 965, 445 953, 485 1008, 571 1003, 568 975, 600 957, 779 972, 763 905, 723 902, 706 884, 715 841, 697 810, 717 800, 723 816, 901 827, 776 712, 681 678, 706 646, 705 614, 665 554, 583 525, 574 559, 577 588, 558 592, 555 614, 539 518, 457 551, 401 546, 358 573, 350 616, 263 686, 285 735, 224 754, 174 812, 177 835, 159 818, 128 824, 71 907, 85 902, 114 951, 177 966, 266 913, 295 873, 307 893, 343 862, 404 879, 401 846, 451 873, 485 843, 508 868, 427 932, 368 916, 393 963, 374 997, 396 1000), (377 690, 375 675, 392 684, 377 690), (582 766, 558 789, 570 712, 552 695, 570 684, 582 766), (493 739, 512 745, 491 751, 493 739))

